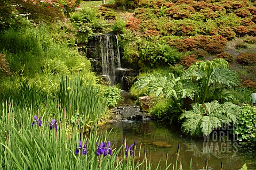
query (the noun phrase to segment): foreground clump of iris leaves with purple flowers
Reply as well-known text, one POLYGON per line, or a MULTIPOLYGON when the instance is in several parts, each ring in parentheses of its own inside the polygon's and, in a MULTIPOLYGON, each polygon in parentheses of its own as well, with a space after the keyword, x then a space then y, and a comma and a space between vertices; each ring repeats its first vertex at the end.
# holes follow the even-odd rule
MULTIPOLYGON (((85 135, 85 114, 74 125, 67 117, 67 109, 56 100, 36 108, 3 102, 0 169, 152 169, 150 153, 141 152, 142 141, 137 148, 136 140, 127 145, 123 139, 122 147, 116 148, 107 141, 108 134, 98 134, 97 122, 85 135)), ((161 169, 171 166, 167 158, 161 169)), ((178 158, 175 166, 182 169, 178 158)))

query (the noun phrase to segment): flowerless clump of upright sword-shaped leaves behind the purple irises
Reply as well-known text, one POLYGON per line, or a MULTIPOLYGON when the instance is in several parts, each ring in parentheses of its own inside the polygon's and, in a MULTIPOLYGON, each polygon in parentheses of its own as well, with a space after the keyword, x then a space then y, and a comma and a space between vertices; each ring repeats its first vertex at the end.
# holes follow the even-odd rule
POLYGON ((92 125, 106 113, 108 107, 107 100, 99 93, 99 86, 93 84, 92 80, 84 79, 82 75, 78 77, 66 75, 60 79, 56 96, 59 103, 66 106, 69 120, 76 113, 83 113, 86 121, 91 122, 92 125))

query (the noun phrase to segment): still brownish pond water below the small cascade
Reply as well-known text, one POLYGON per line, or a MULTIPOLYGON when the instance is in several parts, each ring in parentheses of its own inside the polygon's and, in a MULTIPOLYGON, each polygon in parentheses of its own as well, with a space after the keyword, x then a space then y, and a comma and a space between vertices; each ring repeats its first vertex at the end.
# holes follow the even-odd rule
MULTIPOLYGON (((235 140, 216 138, 206 142, 204 138, 191 139, 183 136, 177 126, 170 126, 170 124, 150 119, 114 122, 100 128, 103 132, 106 132, 106 129, 108 131, 112 129, 108 140, 115 143, 114 146, 117 148, 122 146, 123 138, 127 140, 127 145, 134 143, 134 139, 137 140, 137 143, 142 141, 142 152, 146 149, 148 154, 151 153, 153 167, 158 164, 159 160, 161 160, 160 165, 164 166, 166 151, 169 153, 168 163, 175 163, 179 143, 179 158, 182 161, 183 169, 189 169, 190 158, 192 158, 193 169, 203 169, 206 158, 209 160, 209 169, 220 169, 222 162, 223 169, 237 170, 244 163, 247 163, 248 166, 248 163, 252 162, 252 160, 242 157, 242 152, 238 151, 238 144, 235 140), (171 145, 171 147, 154 145, 157 142, 166 142, 165 145, 171 145)), ((252 165, 249 167, 253 168, 252 165)))

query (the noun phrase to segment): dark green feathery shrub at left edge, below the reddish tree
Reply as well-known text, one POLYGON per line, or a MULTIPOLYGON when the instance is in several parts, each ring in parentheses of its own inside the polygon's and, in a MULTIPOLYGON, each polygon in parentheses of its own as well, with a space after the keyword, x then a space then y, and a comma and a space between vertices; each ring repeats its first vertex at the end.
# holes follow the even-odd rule
POLYGON ((25 73, 41 72, 44 50, 36 29, 9 29, 0 32, 0 51, 4 51, 13 72, 24 69, 25 73))

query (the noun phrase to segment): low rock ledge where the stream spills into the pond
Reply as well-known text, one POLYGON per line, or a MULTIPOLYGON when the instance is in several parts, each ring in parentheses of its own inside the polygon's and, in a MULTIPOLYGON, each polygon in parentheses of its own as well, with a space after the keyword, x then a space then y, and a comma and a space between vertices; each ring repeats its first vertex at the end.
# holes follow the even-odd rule
POLYGON ((138 106, 119 106, 112 109, 113 121, 142 120, 145 118, 138 106))

